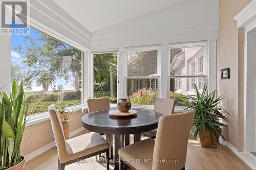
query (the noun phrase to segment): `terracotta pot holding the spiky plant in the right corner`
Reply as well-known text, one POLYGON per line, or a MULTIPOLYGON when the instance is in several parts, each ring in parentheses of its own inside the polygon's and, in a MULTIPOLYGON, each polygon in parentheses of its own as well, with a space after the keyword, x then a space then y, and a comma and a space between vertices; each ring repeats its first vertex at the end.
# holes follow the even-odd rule
POLYGON ((214 139, 214 144, 212 144, 212 142, 210 140, 209 131, 207 129, 205 129, 204 135, 203 135, 202 131, 201 131, 200 137, 199 137, 199 134, 197 135, 197 140, 201 144, 201 147, 203 147, 203 148, 216 148, 217 147, 218 140, 220 138, 220 134, 216 132, 216 134, 218 136, 218 139, 217 139, 213 130, 211 133, 212 133, 212 138, 214 139))

